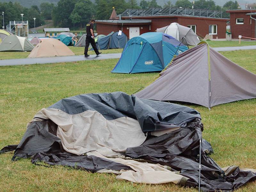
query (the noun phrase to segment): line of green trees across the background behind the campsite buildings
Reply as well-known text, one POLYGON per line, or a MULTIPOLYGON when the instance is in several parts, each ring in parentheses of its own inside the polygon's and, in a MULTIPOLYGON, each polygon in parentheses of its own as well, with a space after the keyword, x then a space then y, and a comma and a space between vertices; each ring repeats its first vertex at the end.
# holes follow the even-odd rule
MULTIPOLYGON (((240 9, 237 1, 228 1, 222 7, 216 5, 213 0, 196 0, 194 9, 208 9, 222 11, 223 17, 229 18, 226 10, 240 9)), ((188 0, 178 0, 175 4, 168 1, 163 7, 157 4, 156 0, 141 0, 140 4, 136 0, 60 0, 57 5, 53 3, 42 3, 40 6, 32 5, 26 8, 20 3, 0 3, 0 12, 4 12, 4 25, 9 21, 21 20, 20 14, 23 13, 23 20, 28 20, 29 26, 34 26, 33 18, 36 18, 36 27, 44 25, 45 20, 53 20, 56 27, 76 27, 84 28, 85 24, 91 19, 109 19, 112 7, 115 7, 117 14, 125 9, 148 9, 165 7, 182 7, 192 9, 193 3, 188 0)), ((3 23, 3 22, 2 22, 3 23)), ((0 25, 2 27, 2 24, 0 25)))

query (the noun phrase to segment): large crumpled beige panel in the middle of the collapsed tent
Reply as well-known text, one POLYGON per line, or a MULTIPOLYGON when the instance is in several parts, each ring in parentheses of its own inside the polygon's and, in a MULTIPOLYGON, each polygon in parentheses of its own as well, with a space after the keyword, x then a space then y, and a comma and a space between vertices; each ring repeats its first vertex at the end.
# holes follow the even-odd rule
POLYGON ((122 155, 127 148, 140 146, 146 140, 138 120, 130 117, 107 120, 97 111, 70 115, 54 108, 43 108, 35 117, 51 119, 57 124, 63 148, 76 155, 91 150, 104 156, 122 155))

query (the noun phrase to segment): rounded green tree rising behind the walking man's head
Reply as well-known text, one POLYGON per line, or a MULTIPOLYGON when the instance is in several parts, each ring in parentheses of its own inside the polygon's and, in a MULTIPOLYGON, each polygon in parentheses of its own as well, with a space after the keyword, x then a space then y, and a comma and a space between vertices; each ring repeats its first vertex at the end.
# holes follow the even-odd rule
POLYGON ((82 28, 92 18, 94 13, 94 6, 90 0, 78 0, 69 19, 72 20, 74 25, 80 23, 82 28))

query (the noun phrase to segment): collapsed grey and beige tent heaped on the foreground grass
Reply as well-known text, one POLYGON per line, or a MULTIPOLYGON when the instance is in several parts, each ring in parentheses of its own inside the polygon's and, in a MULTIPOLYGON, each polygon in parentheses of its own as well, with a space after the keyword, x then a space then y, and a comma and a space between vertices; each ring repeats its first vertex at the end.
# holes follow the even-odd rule
POLYGON ((67 165, 117 179, 229 191, 256 179, 256 170, 221 169, 207 156, 199 112, 168 102, 139 99, 123 92, 91 93, 62 99, 29 122, 12 160, 67 165), (202 146, 200 148, 200 140, 202 146))

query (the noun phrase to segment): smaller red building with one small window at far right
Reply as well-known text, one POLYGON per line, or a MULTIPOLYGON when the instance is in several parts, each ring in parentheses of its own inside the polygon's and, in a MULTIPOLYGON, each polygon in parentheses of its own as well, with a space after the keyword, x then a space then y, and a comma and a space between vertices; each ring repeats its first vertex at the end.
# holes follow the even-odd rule
POLYGON ((256 9, 227 10, 227 12, 230 13, 232 38, 237 39, 239 35, 256 38, 256 9))

